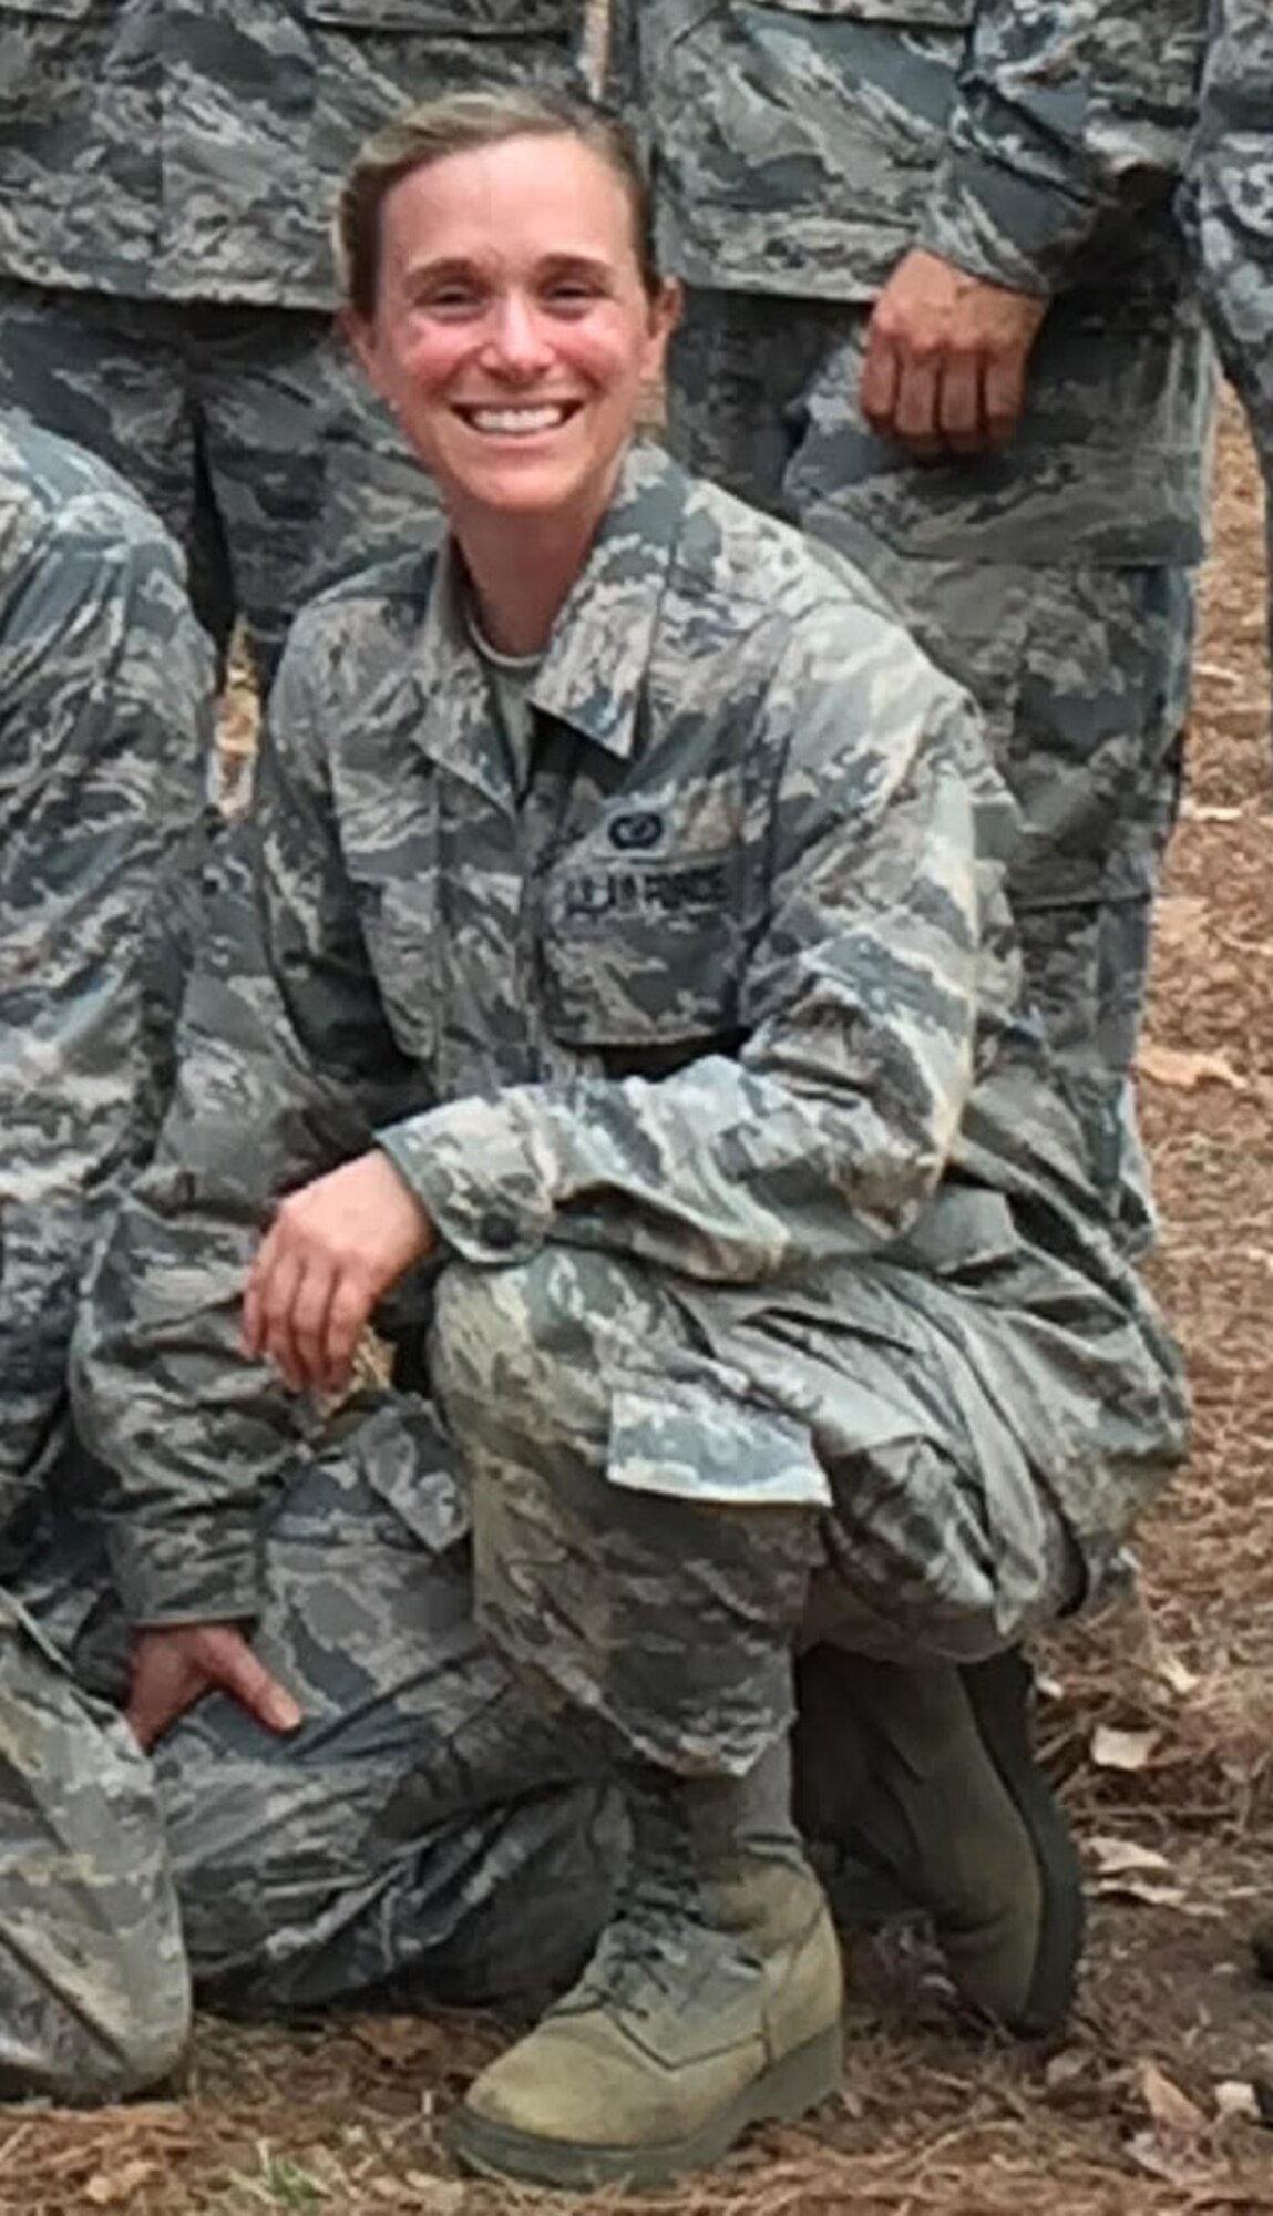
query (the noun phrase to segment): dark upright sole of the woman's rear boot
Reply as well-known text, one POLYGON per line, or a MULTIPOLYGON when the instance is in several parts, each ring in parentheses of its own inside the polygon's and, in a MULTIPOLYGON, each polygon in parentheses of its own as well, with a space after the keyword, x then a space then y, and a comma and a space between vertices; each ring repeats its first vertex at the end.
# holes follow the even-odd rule
POLYGON ((1018 2039, 1060 2030, 1071 2003, 1087 1926, 1082 1864, 1029 1737, 1022 1737, 1033 1673, 1020 1649, 960 1669, 980 1742, 998 1771, 1033 1848, 1042 1881, 1038 1952, 1025 2005, 1005 2023, 1018 2039))

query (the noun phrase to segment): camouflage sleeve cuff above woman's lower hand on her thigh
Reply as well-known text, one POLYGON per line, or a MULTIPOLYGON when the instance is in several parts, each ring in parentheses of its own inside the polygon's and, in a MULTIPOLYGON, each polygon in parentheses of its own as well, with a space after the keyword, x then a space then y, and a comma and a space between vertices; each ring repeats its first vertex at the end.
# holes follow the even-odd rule
POLYGON ((191 1520, 180 1538, 111 1531, 111 1573, 135 1627, 255 1622, 266 1578, 255 1522, 191 1520))

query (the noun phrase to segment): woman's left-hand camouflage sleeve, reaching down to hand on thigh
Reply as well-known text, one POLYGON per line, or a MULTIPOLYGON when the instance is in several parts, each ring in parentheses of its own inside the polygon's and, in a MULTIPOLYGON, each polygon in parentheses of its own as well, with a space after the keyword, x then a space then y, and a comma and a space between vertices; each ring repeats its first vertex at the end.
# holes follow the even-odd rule
POLYGON ((255 1618, 259 1511, 317 1412, 240 1354, 277 1197, 413 1097, 370 979, 306 705, 304 618, 253 820, 222 847, 155 1161, 122 1201, 75 1334, 82 1434, 135 1622, 255 1618))

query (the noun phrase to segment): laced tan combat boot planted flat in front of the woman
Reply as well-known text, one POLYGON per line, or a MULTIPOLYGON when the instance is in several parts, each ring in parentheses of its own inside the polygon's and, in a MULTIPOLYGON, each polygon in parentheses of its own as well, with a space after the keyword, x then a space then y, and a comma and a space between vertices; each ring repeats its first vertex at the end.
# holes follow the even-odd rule
POLYGON ((643 1773, 588 1970, 452 2116, 470 2169, 656 2187, 836 2090, 841 1952, 787 1804, 785 1748, 739 1782, 643 1773))

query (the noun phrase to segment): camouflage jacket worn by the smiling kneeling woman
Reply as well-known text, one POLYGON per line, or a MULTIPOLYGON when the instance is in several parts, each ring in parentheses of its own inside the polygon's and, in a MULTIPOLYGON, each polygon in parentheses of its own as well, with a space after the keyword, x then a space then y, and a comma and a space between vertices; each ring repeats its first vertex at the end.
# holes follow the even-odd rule
MULTIPOLYGON (((1014 1389, 1000 1292, 956 1290, 980 1272, 1029 1303, 1051 1243, 1073 1374, 1111 1307, 1131 1350, 1100 1474, 1122 1522, 1178 1447, 1175 1367, 1020 1013, 1014 818, 965 696, 847 565, 636 448, 519 789, 457 589, 450 554, 415 558, 288 643, 228 858, 246 897, 228 882, 206 935, 80 1347, 133 1615, 257 1609, 255 1505, 297 1409, 235 1352, 242 1276, 271 1199, 373 1139, 444 1268, 601 1248, 723 1361, 767 1303, 887 1316, 887 1343, 931 1312, 1056 1465, 1065 1420, 1014 1389)), ((1109 1509, 1082 1460, 1080 1522, 1109 1509)))

